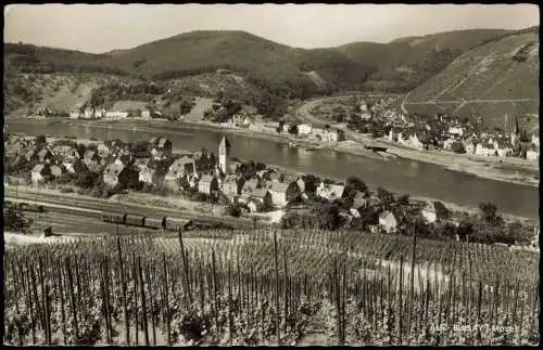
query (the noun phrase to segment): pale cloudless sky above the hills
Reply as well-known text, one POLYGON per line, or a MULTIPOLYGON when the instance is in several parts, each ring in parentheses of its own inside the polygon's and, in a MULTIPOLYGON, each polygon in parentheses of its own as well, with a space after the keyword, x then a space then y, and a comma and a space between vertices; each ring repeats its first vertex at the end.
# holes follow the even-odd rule
POLYGON ((539 23, 534 4, 12 4, 4 42, 102 53, 192 30, 244 30, 312 49, 539 23))

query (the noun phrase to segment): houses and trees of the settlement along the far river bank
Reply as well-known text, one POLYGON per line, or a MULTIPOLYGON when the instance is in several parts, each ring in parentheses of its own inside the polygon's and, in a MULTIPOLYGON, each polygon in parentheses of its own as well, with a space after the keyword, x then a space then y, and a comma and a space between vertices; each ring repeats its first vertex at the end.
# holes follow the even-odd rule
MULTIPOLYGON (((190 100, 194 100, 193 98, 190 100)), ((539 134, 527 134, 520 130, 518 118, 504 116, 504 129, 487 128, 482 118, 477 120, 458 118, 449 114, 434 116, 407 114, 390 107, 390 99, 366 101, 351 99, 344 102, 351 113, 332 113, 330 124, 320 128, 311 122, 301 122, 288 115, 274 121, 256 113, 241 111, 239 102, 215 99, 211 109, 203 113, 203 120, 229 129, 248 130, 255 133, 287 135, 289 140, 313 142, 317 147, 334 145, 345 140, 344 128, 368 139, 386 144, 424 151, 444 151, 478 157, 516 157, 531 161, 539 159, 539 134), (513 131, 507 132, 507 122, 513 119, 513 131)), ((189 113, 193 102, 184 101, 180 112, 189 113)), ((78 106, 70 113, 71 119, 103 120, 184 120, 184 115, 163 115, 156 109, 127 109, 117 103, 112 111, 78 106)), ((341 108, 339 108, 341 111, 341 108)), ((58 116, 59 113, 42 108, 37 116, 58 116)), ((67 116, 67 115, 66 115, 67 116)))

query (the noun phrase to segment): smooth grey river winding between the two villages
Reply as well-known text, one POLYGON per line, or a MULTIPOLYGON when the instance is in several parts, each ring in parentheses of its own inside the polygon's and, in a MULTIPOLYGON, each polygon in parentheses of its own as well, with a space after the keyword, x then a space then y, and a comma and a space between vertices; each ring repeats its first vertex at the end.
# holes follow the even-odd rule
MULTIPOLYGON (((177 151, 194 151, 205 147, 215 154, 218 154, 218 143, 223 137, 220 132, 210 130, 184 128, 132 130, 130 127, 118 125, 46 125, 43 121, 27 120, 10 120, 7 129, 27 135, 75 135, 79 139, 121 139, 123 141, 141 141, 165 135, 172 140, 177 151)), ((539 218, 539 189, 533 186, 477 178, 445 170, 438 165, 404 158, 380 160, 327 150, 310 152, 243 135, 228 135, 228 139, 232 146, 231 156, 241 159, 253 159, 341 181, 353 174, 371 187, 382 186, 401 194, 439 198, 473 208, 477 208, 481 202, 491 202, 501 211, 531 219, 539 218)))

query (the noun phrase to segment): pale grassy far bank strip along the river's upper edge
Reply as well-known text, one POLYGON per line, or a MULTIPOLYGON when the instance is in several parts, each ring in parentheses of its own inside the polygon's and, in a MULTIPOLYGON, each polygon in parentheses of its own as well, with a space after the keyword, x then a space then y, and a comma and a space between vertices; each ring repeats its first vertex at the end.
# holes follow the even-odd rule
MULTIPOLYGON (((43 119, 14 119, 17 122, 25 121, 30 124, 42 124, 43 119)), ((89 120, 66 120, 53 119, 49 122, 60 122, 70 125, 81 125, 94 128, 115 128, 122 130, 139 130, 139 131, 168 131, 182 132, 184 130, 205 130, 213 132, 223 132, 227 134, 242 135, 251 139, 260 139, 272 141, 281 144, 295 143, 294 147, 301 147, 304 151, 328 150, 338 153, 345 153, 372 159, 388 160, 393 157, 402 157, 404 159, 417 160, 421 163, 434 164, 451 171, 458 171, 476 176, 483 179, 516 183, 528 186, 539 186, 539 164, 529 163, 523 159, 515 158, 478 158, 466 155, 457 155, 447 152, 438 151, 418 151, 408 147, 402 147, 396 144, 382 142, 388 150, 387 152, 372 152, 364 148, 365 142, 375 143, 375 140, 366 140, 364 135, 357 135, 357 140, 341 141, 337 144, 318 143, 308 140, 288 137, 285 134, 270 134, 255 132, 249 129, 225 127, 210 121, 168 121, 153 120, 152 124, 146 120, 114 120, 114 121, 89 121, 89 120), (522 161, 523 160, 523 161, 522 161)))

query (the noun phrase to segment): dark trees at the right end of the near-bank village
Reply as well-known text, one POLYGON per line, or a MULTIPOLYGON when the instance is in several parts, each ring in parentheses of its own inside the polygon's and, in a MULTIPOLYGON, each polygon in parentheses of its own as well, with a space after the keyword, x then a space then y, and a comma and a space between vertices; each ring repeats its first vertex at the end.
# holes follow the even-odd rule
POLYGON ((454 239, 457 236, 475 243, 504 243, 530 244, 533 228, 522 225, 518 221, 505 223, 497 213, 495 205, 483 203, 480 205, 480 215, 464 213, 458 225, 450 221, 427 223, 420 216, 420 207, 409 203, 408 195, 394 196, 391 192, 379 187, 375 195, 379 205, 368 207, 359 211, 359 218, 348 220, 342 212, 349 211, 353 204, 353 197, 357 192, 368 193, 366 184, 357 177, 350 177, 345 182, 342 198, 328 202, 318 197, 310 198, 311 210, 290 210, 282 220, 283 229, 313 229, 315 226, 324 230, 338 230, 348 222, 349 230, 367 231, 368 225, 378 224, 379 213, 390 210, 399 220, 397 234, 420 237, 454 239))

